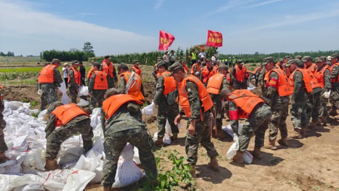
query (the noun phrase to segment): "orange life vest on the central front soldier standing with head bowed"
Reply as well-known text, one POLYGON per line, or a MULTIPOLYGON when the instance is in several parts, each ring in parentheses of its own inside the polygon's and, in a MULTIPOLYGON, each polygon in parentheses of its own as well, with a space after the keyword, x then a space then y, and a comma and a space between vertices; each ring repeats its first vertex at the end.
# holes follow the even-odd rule
MULTIPOLYGON (((213 106, 213 101, 211 97, 209 96, 207 90, 205 89, 201 81, 197 79, 195 76, 189 75, 188 77, 182 80, 182 82, 180 83, 180 88, 179 88, 179 104, 183 112, 185 113, 185 115, 187 117, 191 116, 190 106, 189 106, 187 92, 186 92, 187 81, 191 81, 197 86, 198 92, 199 92, 199 99, 202 103, 201 107, 203 107, 204 111, 208 111, 213 106)), ((202 121, 203 118, 202 118, 201 108, 200 108, 200 118, 202 121)))

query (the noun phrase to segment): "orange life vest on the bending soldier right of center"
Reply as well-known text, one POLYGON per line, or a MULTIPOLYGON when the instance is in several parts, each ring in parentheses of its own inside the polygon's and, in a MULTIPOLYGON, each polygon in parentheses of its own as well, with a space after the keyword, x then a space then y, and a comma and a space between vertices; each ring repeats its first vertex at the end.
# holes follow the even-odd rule
POLYGON ((237 108, 240 108, 237 111, 229 111, 231 120, 238 120, 239 118, 247 119, 258 103, 265 102, 258 95, 248 90, 236 90, 228 97, 228 100, 233 101, 237 108))

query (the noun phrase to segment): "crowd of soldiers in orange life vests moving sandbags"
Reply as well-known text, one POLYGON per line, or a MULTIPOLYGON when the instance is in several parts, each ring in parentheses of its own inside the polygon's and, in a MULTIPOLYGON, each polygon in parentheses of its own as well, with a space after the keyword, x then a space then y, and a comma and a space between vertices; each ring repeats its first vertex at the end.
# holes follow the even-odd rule
MULTIPOLYGON (((233 57, 220 61, 217 56, 206 58, 204 51, 199 55, 193 51, 189 55, 191 68, 185 60, 174 57, 173 52, 158 57, 153 69, 154 103, 158 106, 158 139, 155 142, 142 120, 140 107, 145 103, 145 94, 138 60, 134 61, 131 69, 120 63, 116 70, 111 57, 105 56, 102 62, 92 61, 92 68, 85 78, 77 69, 79 62, 72 61, 67 76, 64 75, 71 95, 72 103, 69 104, 63 104, 57 96, 56 88, 63 82, 58 70, 60 60, 53 59, 51 63, 46 63, 37 78, 38 90, 42 92, 40 109, 45 109, 49 104, 45 129, 45 169, 57 169, 56 155, 60 145, 74 133, 82 135, 84 153, 92 148, 93 131, 89 114, 96 106, 101 108, 101 127, 105 137, 106 157, 102 178, 105 190, 110 190, 115 181, 119 156, 127 142, 139 149, 146 173, 157 177, 152 147, 164 144, 167 120, 172 132, 171 139, 174 143, 178 142, 177 125, 183 115, 188 118, 185 151, 187 163, 192 167, 190 174, 194 178, 199 144, 207 151, 210 158, 208 165, 214 170, 219 168, 218 152, 211 142, 211 136, 213 128, 217 138, 226 136, 222 130, 224 113, 233 132, 239 137, 239 150, 232 158, 237 163, 244 163, 242 155, 253 135, 255 147, 250 153, 260 159, 262 147, 276 150, 276 142, 288 147, 287 139, 304 138, 308 129, 326 125, 329 115, 339 120, 339 54, 314 60, 310 56, 296 56, 294 59, 285 56, 277 63, 273 57, 267 57, 254 72, 248 71, 242 60, 235 61, 233 57), (261 87, 261 95, 247 90, 251 79, 255 79, 255 85, 261 87), (78 88, 85 84, 90 96, 87 109, 76 104, 78 88), (327 108, 329 100, 331 112, 327 108), (293 124, 291 134, 288 134, 286 125, 289 113, 293 124), (246 119, 240 131, 239 119, 246 119), (214 124, 212 121, 215 121, 214 124), (56 129, 57 126, 60 128, 56 129), (269 140, 264 144, 267 129, 269 140), (278 130, 281 138, 277 141, 278 130)), ((81 98, 87 100, 87 96, 81 98)), ((0 111, 3 109, 1 97, 0 111)), ((4 154, 7 146, 2 132, 5 128, 2 114, 0 127, 0 163, 3 163, 7 160, 4 154)))

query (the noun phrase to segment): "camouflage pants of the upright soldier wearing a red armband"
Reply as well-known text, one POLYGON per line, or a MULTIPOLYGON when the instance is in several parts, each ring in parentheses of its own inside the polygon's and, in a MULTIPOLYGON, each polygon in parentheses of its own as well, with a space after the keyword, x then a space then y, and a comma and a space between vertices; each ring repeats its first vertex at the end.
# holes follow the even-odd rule
POLYGON ((277 139, 278 129, 281 137, 287 137, 286 118, 288 116, 288 105, 289 101, 272 104, 272 117, 268 124, 270 140, 277 139))

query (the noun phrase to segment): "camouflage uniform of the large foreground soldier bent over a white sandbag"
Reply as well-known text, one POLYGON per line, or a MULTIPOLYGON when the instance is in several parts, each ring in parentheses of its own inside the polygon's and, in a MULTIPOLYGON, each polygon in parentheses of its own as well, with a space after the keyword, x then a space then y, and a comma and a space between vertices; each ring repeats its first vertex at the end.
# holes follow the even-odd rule
POLYGON ((157 178, 158 170, 152 152, 154 141, 146 130, 146 124, 141 119, 142 114, 138 105, 133 102, 125 103, 107 120, 105 120, 103 109, 101 109, 101 113, 101 124, 105 135, 104 151, 106 154, 101 184, 104 187, 112 187, 115 182, 119 156, 127 142, 139 149, 140 161, 145 166, 146 174, 152 174, 157 178), (129 111, 130 106, 137 108, 138 111, 129 111))

